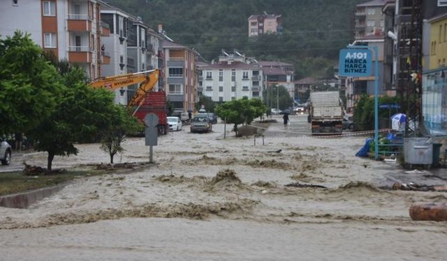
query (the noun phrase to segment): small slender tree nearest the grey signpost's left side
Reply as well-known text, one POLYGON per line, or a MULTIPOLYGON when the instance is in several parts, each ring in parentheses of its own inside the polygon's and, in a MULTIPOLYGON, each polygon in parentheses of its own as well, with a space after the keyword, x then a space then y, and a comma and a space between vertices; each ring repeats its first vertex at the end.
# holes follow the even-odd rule
POLYGON ((101 127, 101 150, 110 156, 110 164, 117 153, 124 153, 122 142, 129 134, 135 134, 140 129, 141 123, 131 116, 123 106, 115 104, 112 106, 113 117, 107 126, 101 127))

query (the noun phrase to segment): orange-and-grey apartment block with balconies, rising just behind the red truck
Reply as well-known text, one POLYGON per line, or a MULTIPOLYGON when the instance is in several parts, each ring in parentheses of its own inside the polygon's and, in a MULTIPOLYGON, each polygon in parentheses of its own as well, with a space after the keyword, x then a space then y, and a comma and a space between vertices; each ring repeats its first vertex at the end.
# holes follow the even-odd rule
POLYGON ((164 89, 168 100, 176 110, 194 110, 196 104, 196 61, 195 52, 169 40, 163 40, 164 89))

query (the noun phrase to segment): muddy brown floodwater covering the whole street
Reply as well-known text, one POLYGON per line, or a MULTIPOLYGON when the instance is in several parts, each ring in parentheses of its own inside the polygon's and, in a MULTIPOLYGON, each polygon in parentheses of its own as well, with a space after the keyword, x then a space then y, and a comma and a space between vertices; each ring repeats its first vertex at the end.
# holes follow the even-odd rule
MULTIPOLYGON (((28 209, 0 207, 1 259, 445 260, 447 223, 411 221, 408 209, 447 194, 379 189, 397 166, 355 157, 365 138, 297 133, 305 120, 291 116, 287 133, 279 120, 256 146, 223 139, 221 124, 210 134, 185 126, 159 139, 156 164, 80 178, 28 209)), ((125 147, 117 163, 148 161, 143 139, 125 147)), ((78 148, 54 168, 108 161, 98 144, 78 148)))

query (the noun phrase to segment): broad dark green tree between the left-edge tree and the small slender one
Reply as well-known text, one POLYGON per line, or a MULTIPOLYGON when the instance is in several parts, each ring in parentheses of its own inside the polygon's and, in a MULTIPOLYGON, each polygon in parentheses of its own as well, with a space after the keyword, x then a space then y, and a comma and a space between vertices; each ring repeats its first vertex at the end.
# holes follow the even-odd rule
POLYGON ((73 68, 64 75, 66 86, 63 97, 57 100, 56 111, 43 118, 30 136, 37 141, 35 149, 48 153, 47 170, 51 171, 54 156, 77 155, 75 143, 94 139, 99 129, 115 117, 113 93, 105 89, 89 88, 80 77, 81 68, 73 68), (75 75, 80 79, 73 81, 75 75))

